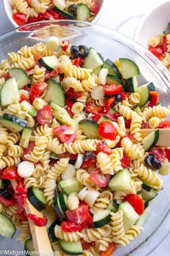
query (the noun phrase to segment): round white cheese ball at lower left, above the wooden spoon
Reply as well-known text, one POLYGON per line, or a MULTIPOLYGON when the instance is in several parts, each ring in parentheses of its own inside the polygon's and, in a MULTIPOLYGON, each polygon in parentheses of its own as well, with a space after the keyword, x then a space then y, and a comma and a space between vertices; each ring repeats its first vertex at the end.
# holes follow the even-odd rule
POLYGON ((29 161, 23 161, 22 163, 19 163, 19 166, 17 168, 17 173, 22 178, 30 177, 34 171, 35 171, 34 164, 29 161))

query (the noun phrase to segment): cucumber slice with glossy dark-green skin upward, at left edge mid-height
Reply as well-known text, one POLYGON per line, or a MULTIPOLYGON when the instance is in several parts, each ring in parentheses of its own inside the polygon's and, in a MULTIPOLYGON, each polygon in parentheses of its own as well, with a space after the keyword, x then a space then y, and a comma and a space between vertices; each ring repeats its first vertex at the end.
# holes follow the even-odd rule
POLYGON ((12 132, 21 132, 27 126, 27 121, 11 114, 1 116, 0 123, 12 132))

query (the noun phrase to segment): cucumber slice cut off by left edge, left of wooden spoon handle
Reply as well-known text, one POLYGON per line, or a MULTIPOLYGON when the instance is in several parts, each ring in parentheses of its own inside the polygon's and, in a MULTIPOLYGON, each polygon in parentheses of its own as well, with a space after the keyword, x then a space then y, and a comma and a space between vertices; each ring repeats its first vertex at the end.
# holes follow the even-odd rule
POLYGON ((12 238, 16 232, 16 227, 12 221, 0 213, 0 235, 12 238))

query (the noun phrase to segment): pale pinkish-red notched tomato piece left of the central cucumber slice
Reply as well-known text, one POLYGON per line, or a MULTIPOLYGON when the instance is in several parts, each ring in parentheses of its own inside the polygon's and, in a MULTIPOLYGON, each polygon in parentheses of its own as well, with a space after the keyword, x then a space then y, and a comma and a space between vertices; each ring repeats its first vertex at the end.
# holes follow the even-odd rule
POLYGON ((53 129, 53 133, 55 137, 57 137, 58 140, 60 140, 62 143, 70 143, 73 142, 73 140, 75 140, 76 132, 74 132, 73 135, 67 135, 63 133, 68 131, 70 128, 71 127, 69 127, 68 125, 61 125, 60 127, 55 127, 53 129))

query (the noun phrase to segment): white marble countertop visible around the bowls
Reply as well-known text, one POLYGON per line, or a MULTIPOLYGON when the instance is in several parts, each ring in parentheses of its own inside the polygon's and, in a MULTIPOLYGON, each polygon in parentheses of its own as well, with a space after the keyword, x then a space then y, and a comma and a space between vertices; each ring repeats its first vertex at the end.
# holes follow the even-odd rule
MULTIPOLYGON (((111 27, 112 29, 133 38, 138 22, 140 22, 140 18, 143 17, 149 9, 156 7, 156 5, 161 4, 162 2, 164 2, 164 0, 105 0, 104 12, 102 17, 99 18, 98 23, 111 27)), ((2 0, 0 0, 0 34, 11 29, 12 25, 9 20, 7 20, 2 0)), ((170 234, 149 256, 169 255, 170 234)))

